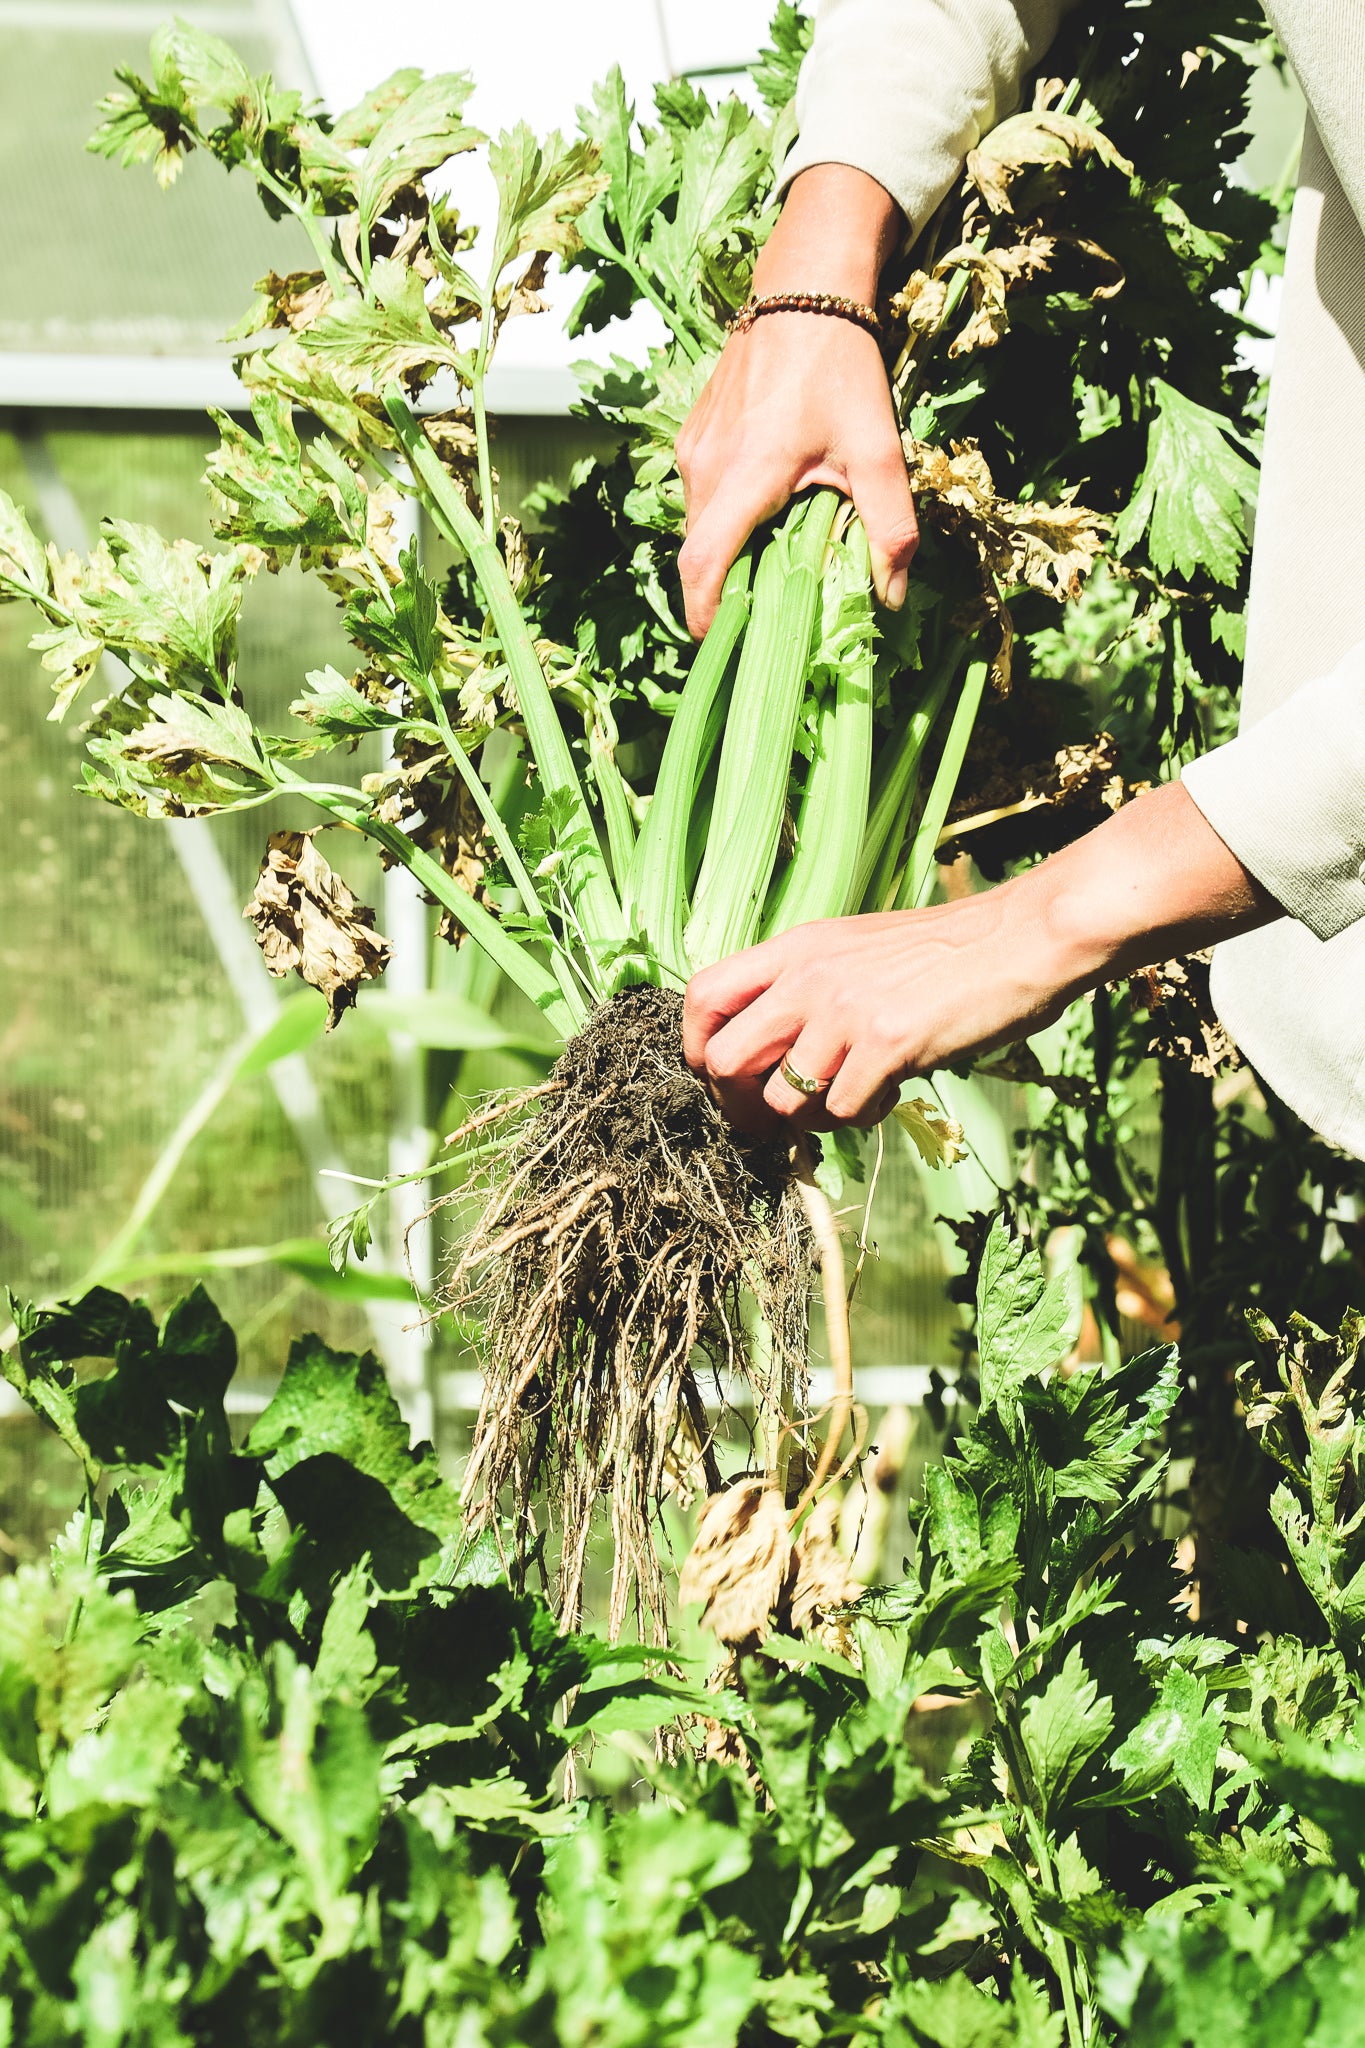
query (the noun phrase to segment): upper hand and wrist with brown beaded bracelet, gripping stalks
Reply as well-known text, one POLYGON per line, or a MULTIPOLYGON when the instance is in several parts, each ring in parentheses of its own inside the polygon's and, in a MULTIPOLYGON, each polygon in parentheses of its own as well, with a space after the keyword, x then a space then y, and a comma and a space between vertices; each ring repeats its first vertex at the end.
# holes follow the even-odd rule
MULTIPOLYGON (((817 164, 788 193, 753 274, 755 297, 831 291, 870 303, 900 215, 882 186, 817 164)), ((905 602, 919 541, 896 414, 876 338, 827 313, 772 313, 733 334, 677 436, 688 502, 679 557, 700 635, 753 528, 794 492, 845 492, 868 530, 876 592, 905 602)))

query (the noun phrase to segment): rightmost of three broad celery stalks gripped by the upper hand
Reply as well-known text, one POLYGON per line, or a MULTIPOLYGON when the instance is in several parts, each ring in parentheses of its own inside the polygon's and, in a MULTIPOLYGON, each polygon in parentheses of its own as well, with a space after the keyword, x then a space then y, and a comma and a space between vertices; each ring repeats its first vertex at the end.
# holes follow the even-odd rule
MULTIPOLYGON (((868 535, 853 520, 843 543, 862 588, 870 586, 868 535)), ((872 788, 872 682, 876 670, 872 600, 857 649, 839 662, 812 735, 810 770, 796 817, 796 852, 774 889, 763 938, 794 924, 837 918, 857 870, 872 788)))

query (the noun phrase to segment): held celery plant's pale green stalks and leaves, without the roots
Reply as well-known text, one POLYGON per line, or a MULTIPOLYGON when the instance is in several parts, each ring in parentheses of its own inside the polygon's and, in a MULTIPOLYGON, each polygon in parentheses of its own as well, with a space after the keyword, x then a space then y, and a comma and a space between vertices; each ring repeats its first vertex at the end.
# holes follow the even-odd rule
MULTIPOLYGON (((149 160, 162 182, 192 147, 244 168, 266 207, 305 229, 317 268, 264 279, 237 330, 256 434, 219 422, 209 483, 223 553, 108 522, 88 563, 57 561, 4 506, 0 592, 43 614, 35 647, 55 676, 55 715, 102 653, 129 670, 86 729, 90 788, 129 809, 184 815, 307 797, 411 868, 565 1036, 618 987, 681 987, 696 967, 763 934, 919 901, 984 674, 968 670, 917 809, 919 762, 972 637, 970 618, 966 633, 952 618, 982 602, 960 561, 915 590, 911 621, 933 649, 933 666, 917 674, 915 631, 882 643, 857 522, 831 492, 798 502, 737 563, 686 670, 673 647, 681 688, 645 793, 616 758, 614 709, 639 733, 643 690, 620 666, 610 672, 600 647, 583 649, 581 635, 569 647, 544 631, 536 578, 518 559, 524 537, 497 502, 485 399, 497 336, 538 305, 551 260, 577 260, 593 270, 579 317, 593 317, 596 299, 620 303, 624 285, 626 299, 645 297, 667 319, 667 348, 628 379, 641 403, 616 397, 616 416, 630 432, 636 518, 677 524, 671 430, 747 289, 788 117, 767 123, 739 102, 712 111, 677 88, 661 98, 663 127, 636 131, 614 76, 583 135, 540 143, 520 127, 485 143, 463 119, 467 78, 399 72, 329 119, 182 23, 153 39, 149 82, 121 78, 92 147, 149 160), (479 238, 426 182, 473 147, 487 147, 497 186, 497 217, 479 238), (424 418, 417 401, 438 373, 454 377, 458 403, 424 418), (301 440, 297 408, 325 432, 301 440), (391 541, 399 494, 417 498, 465 563, 465 582, 446 594, 391 541), (293 707, 303 727, 278 735, 248 713, 233 633, 250 580, 295 555, 344 602, 360 666, 352 678, 311 674, 293 707), (538 788, 540 807, 520 831, 481 766, 495 727, 520 735, 538 788), (377 731, 395 756, 387 776, 319 778, 303 766, 354 754, 377 731), (702 844, 698 803, 710 807, 702 844), (493 862, 481 895, 442 854, 450 836, 438 823, 452 805, 473 813, 493 862)), ((980 242, 948 262, 941 324, 978 274, 980 242)), ((921 334, 898 367, 921 412, 935 334, 921 334)), ((608 416, 600 383, 591 397, 608 416)), ((952 492, 950 481, 945 502, 952 492)), ((993 563, 1007 528, 1023 582, 1046 582, 1056 567, 1056 545, 1038 541, 1040 512, 1048 508, 1001 512, 988 479, 976 494, 968 539, 997 610, 993 563), (1031 539, 1019 543, 1029 522, 1031 539)), ((1052 514, 1054 526, 1068 524, 1085 553, 1095 526, 1070 506, 1064 514, 1052 514)), ((667 606, 659 586, 665 618, 667 606)), ((978 616, 986 639, 999 639, 988 606, 978 616)), ((657 688, 655 705, 669 709, 657 688)), ((303 879, 299 893, 309 893, 303 879)), ((315 928, 325 922, 315 893, 305 907, 315 928)), ((297 950, 309 973, 309 948, 297 950)), ((342 983, 338 1012, 372 963, 346 932, 325 950, 342 983)))

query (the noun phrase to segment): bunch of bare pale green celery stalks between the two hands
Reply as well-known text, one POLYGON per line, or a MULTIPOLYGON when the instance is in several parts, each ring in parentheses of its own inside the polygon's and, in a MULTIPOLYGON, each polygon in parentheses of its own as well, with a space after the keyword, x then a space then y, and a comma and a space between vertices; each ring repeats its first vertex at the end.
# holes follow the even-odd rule
MULTIPOLYGON (((837 492, 796 500, 772 537, 735 561, 639 829, 610 748, 589 748, 600 834, 503 557, 397 385, 385 403, 436 526, 479 582, 546 807, 569 848, 557 872, 561 915, 548 973, 524 946, 489 932, 495 920, 477 905, 473 915, 452 907, 565 1036, 596 995, 616 987, 651 979, 681 989, 696 969, 796 924, 925 901, 988 666, 968 662, 968 643, 945 627, 876 743, 868 541, 837 492), (917 811, 925 748, 960 678, 917 811), (563 958, 569 948, 573 971, 563 958)), ((935 612, 927 625, 937 625, 935 612)), ((467 758, 456 766, 505 852, 493 797, 467 758)), ((522 868, 520 858, 510 866, 522 868)), ((546 905, 524 907, 544 934, 546 905)))

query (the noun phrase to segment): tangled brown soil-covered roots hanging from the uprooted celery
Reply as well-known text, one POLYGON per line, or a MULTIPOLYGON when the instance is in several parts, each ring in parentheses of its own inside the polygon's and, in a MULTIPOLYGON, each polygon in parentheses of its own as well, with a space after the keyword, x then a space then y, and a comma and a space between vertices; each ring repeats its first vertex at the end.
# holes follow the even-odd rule
POLYGON ((610 1628, 634 1595, 663 1640, 655 1518, 679 1440, 718 1485, 698 1374, 763 1405, 804 1399, 812 1239, 786 1147, 743 1141, 681 1059, 681 997, 602 1004, 510 1135, 446 1303, 483 1321, 487 1378, 467 1493, 475 1522, 559 1503, 567 1624, 583 1604, 593 1509, 610 1501, 610 1628), (759 1360, 741 1294, 767 1331, 759 1360), (772 1350, 767 1350, 772 1346, 772 1350))

